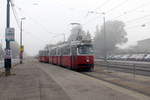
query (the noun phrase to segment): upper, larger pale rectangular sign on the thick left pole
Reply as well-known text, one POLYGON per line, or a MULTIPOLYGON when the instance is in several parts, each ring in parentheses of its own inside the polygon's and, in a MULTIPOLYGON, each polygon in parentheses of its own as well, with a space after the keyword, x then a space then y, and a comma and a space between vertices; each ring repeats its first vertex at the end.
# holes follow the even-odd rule
POLYGON ((6 28, 5 30, 5 39, 6 41, 14 41, 15 40, 15 29, 14 28, 6 28))

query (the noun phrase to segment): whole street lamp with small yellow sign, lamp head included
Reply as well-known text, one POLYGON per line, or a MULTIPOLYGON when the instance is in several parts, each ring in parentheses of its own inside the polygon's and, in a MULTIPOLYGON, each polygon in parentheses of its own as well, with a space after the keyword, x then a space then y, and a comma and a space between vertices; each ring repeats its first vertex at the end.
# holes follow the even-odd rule
POLYGON ((26 19, 25 17, 21 18, 21 22, 20 22, 20 64, 22 64, 23 62, 24 46, 22 45, 22 21, 25 19, 26 19))

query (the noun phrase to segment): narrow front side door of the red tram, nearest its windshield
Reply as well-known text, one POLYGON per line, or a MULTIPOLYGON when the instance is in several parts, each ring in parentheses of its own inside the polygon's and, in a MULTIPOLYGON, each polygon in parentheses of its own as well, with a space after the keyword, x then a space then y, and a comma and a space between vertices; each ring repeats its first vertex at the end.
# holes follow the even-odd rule
POLYGON ((76 67, 77 47, 71 47, 71 68, 76 67))

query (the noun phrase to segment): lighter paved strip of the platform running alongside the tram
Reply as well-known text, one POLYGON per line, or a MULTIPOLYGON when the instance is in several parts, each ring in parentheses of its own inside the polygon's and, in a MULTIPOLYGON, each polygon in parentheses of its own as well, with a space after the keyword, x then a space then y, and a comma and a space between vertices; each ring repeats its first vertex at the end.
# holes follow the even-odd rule
POLYGON ((50 64, 41 69, 51 76, 72 100, 150 100, 142 95, 104 81, 50 64))

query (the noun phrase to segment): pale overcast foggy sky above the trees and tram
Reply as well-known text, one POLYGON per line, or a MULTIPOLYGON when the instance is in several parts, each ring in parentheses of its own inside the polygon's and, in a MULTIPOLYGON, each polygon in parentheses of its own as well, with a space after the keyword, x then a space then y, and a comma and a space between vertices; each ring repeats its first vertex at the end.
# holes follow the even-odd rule
MULTIPOLYGON (((5 47, 6 1, 0 0, 0 37, 5 47)), ((83 25, 94 36, 95 27, 103 24, 103 15, 88 14, 88 11, 106 13, 107 20, 125 23, 128 43, 150 38, 150 0, 12 0, 16 14, 23 21, 23 44, 25 51, 35 55, 48 43, 63 41, 70 35, 72 22, 83 25), (143 18, 142 18, 143 17, 143 18), (141 25, 146 24, 146 27, 141 25), (60 35, 59 35, 60 34, 60 35)), ((18 19, 18 22, 19 19, 18 19)), ((11 11, 11 27, 15 27, 15 39, 19 41, 19 28, 11 11)))

